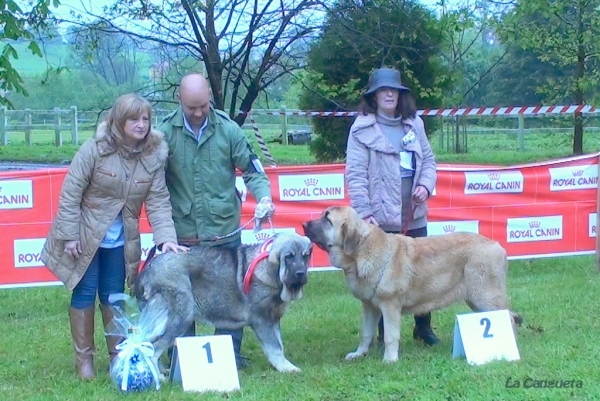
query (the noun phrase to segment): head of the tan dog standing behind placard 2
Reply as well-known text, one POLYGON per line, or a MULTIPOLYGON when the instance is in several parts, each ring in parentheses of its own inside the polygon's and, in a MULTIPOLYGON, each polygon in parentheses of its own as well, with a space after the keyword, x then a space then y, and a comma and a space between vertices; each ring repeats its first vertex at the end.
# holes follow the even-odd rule
MULTIPOLYGON (((334 256, 343 254, 352 256, 363 239, 369 234, 368 225, 348 206, 332 206, 323 211, 321 217, 302 224, 304 234, 319 248, 329 254, 331 262, 334 256)), ((337 259, 337 257, 336 257, 337 259)))

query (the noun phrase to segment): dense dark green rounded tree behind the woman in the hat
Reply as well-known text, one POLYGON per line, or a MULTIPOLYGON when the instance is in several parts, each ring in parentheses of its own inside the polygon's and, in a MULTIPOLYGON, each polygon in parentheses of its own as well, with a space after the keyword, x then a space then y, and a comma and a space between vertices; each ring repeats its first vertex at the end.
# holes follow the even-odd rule
MULTIPOLYGON (((437 107, 448 84, 442 33, 433 13, 416 1, 340 0, 328 13, 308 56, 309 72, 300 106, 324 111, 353 110, 369 73, 382 66, 402 71, 419 107, 437 107)), ((314 119, 311 150, 321 162, 345 157, 352 119, 314 119)))

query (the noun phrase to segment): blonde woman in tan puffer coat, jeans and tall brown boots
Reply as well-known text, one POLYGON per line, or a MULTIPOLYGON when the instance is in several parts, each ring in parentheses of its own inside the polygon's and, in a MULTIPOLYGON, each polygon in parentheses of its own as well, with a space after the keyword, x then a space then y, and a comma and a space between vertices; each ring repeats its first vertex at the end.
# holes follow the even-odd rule
MULTIPOLYGON (((141 260, 139 219, 145 203, 154 242, 177 245, 164 165, 168 148, 151 128, 150 103, 136 94, 119 97, 93 138, 73 158, 42 260, 69 290, 77 374, 95 377, 96 293, 104 326, 112 319, 108 296, 134 283, 141 260)), ((110 359, 119 338, 107 337, 110 359)))

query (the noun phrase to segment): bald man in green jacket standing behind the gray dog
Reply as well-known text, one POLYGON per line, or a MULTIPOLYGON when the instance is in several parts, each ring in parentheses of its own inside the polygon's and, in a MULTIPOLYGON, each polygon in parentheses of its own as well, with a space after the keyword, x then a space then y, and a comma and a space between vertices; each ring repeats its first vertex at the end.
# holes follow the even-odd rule
MULTIPOLYGON (((263 210, 272 212, 269 180, 242 129, 213 107, 211 89, 202 75, 183 77, 178 96, 179 108, 157 127, 169 144, 166 179, 178 242, 227 247, 237 255, 242 202, 235 188, 236 169, 263 210)), ((195 326, 187 334, 195 335, 195 326)), ((231 335, 242 368, 243 329, 217 328, 215 334, 231 335)))

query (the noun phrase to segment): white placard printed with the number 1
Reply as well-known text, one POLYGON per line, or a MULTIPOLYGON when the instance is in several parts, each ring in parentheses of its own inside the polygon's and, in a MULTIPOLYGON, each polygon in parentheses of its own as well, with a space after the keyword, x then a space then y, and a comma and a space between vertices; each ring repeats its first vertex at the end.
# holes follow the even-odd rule
POLYGON ((240 389, 230 335, 179 337, 171 361, 171 381, 183 391, 237 391, 240 389))

